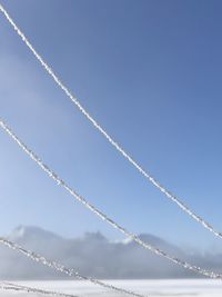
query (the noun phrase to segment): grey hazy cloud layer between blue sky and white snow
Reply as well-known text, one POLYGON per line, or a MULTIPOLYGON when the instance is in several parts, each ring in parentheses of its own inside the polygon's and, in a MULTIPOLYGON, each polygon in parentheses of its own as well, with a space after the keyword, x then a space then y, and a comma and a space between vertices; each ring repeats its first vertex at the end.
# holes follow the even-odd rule
MULTIPOLYGON (((198 277, 191 271, 172 265, 143 250, 134 242, 110 242, 100 232, 85 234, 82 238, 65 239, 37 227, 18 227, 9 238, 26 248, 57 259, 70 268, 98 278, 180 278, 198 277)), ((141 238, 173 256, 189 259, 192 264, 222 270, 221 255, 186 254, 152 235, 141 238)), ((0 278, 63 278, 59 273, 30 261, 13 250, 0 247, 0 278)))

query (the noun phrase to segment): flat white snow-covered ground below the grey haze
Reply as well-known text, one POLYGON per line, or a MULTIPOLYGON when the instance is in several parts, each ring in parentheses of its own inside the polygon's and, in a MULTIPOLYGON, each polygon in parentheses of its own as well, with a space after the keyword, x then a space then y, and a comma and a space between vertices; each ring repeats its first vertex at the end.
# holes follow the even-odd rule
MULTIPOLYGON (((26 285, 30 287, 43 288, 48 290, 57 290, 61 293, 75 294, 79 296, 105 296, 105 297, 120 297, 127 295, 115 294, 111 290, 105 290, 99 286, 93 286, 85 281, 13 281, 18 285, 26 285)), ((179 279, 179 280, 109 280, 118 287, 132 289, 137 293, 144 294, 145 296, 153 297, 214 297, 222 296, 222 281, 209 279, 179 279)), ((10 293, 0 290, 0 297, 27 297, 37 296, 27 293, 10 293)))

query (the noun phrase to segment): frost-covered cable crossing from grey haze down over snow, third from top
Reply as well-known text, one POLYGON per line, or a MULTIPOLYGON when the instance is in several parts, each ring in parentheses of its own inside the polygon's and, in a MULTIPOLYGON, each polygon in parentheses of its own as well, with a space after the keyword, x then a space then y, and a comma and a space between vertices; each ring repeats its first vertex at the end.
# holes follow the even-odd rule
POLYGON ((134 297, 145 297, 144 295, 141 295, 141 294, 137 294, 134 291, 131 291, 131 290, 127 290, 127 289, 123 289, 123 288, 119 288, 119 287, 115 287, 113 285, 110 285, 110 284, 107 284, 107 283, 103 283, 99 279, 95 279, 95 278, 92 278, 92 277, 87 277, 87 276, 83 276, 81 274, 79 274, 78 271, 75 271, 74 269, 70 269, 70 268, 67 268, 64 267, 63 265, 57 263, 57 261, 52 261, 52 260, 49 260, 47 259, 46 257, 32 251, 32 250, 28 250, 19 245, 17 245, 16 242, 4 238, 4 237, 0 237, 0 244, 1 245, 4 245, 7 246, 8 248, 11 248, 13 250, 17 250, 19 253, 21 253, 22 255, 24 255, 26 257, 28 257, 29 259, 33 260, 33 261, 37 261, 37 263, 41 263, 57 271, 60 271, 62 274, 65 274, 70 277, 75 277, 75 278, 79 278, 79 279, 82 279, 82 280, 88 280, 94 285, 99 285, 99 286, 102 286, 104 288, 108 288, 108 289, 112 289, 114 291, 118 291, 118 293, 121 293, 121 294, 128 294, 128 295, 131 295, 131 296, 134 296, 134 297))

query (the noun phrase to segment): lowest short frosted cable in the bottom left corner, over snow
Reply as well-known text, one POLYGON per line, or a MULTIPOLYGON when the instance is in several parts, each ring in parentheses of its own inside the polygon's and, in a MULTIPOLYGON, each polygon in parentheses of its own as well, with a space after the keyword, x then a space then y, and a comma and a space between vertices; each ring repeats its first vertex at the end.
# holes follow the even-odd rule
POLYGON ((0 289, 12 290, 12 291, 26 291, 26 293, 33 293, 38 295, 54 296, 54 297, 78 297, 77 295, 72 295, 72 294, 44 290, 44 289, 39 289, 39 288, 33 288, 33 287, 21 286, 21 285, 12 284, 12 283, 6 283, 6 281, 0 284, 0 289))

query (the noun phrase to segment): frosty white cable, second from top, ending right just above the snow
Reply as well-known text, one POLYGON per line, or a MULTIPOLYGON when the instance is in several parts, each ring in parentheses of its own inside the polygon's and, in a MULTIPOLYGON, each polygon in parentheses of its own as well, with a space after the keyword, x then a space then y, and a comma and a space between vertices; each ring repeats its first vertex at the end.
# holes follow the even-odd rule
POLYGON ((199 273, 201 275, 211 277, 211 278, 222 278, 222 275, 219 275, 213 271, 209 271, 205 269, 202 269, 201 267, 191 265, 184 260, 181 260, 176 257, 173 257, 171 255, 169 255, 168 253, 144 242, 143 240, 141 240, 137 235, 128 231, 125 228, 123 228, 122 226, 120 226, 118 222, 115 222, 114 220, 112 220, 111 218, 109 218, 105 214, 103 214, 101 210, 99 210, 95 206, 91 205, 84 197, 80 196, 75 190, 73 190, 70 186, 68 186, 65 184, 64 180, 62 180, 53 170, 51 170, 31 149, 29 149, 27 147, 27 145, 24 145, 19 138, 18 136, 7 126, 6 122, 3 122, 0 119, 0 127, 17 142, 17 145, 24 150, 28 156, 34 160, 39 167, 48 175, 50 176, 58 185, 60 185, 61 187, 63 187, 71 196, 73 196, 77 200, 79 200, 81 204, 83 204, 87 208, 89 208, 92 212, 94 212, 95 215, 98 215, 102 220, 107 221, 108 224, 110 224, 113 228, 118 229, 119 231, 121 231, 122 234, 124 234, 127 237, 131 238, 132 240, 134 240, 137 244, 139 244, 140 246, 142 246, 144 249, 151 250, 154 254, 162 256, 167 259, 169 259, 170 261, 178 264, 179 266, 182 266, 183 268, 190 269, 192 271, 199 273))

